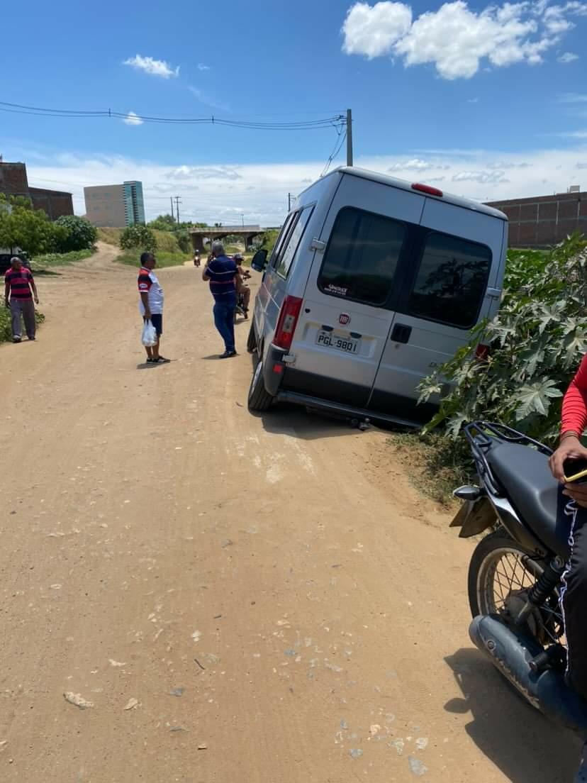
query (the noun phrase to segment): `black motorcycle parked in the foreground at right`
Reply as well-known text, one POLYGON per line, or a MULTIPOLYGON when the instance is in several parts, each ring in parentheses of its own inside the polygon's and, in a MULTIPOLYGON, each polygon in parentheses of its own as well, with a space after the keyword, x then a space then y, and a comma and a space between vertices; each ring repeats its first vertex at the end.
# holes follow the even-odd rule
POLYGON ((585 738, 587 702, 565 681, 560 590, 571 520, 557 514, 552 450, 486 421, 464 435, 479 485, 455 490, 463 505, 451 526, 461 538, 492 528, 470 561, 470 638, 535 709, 585 738))

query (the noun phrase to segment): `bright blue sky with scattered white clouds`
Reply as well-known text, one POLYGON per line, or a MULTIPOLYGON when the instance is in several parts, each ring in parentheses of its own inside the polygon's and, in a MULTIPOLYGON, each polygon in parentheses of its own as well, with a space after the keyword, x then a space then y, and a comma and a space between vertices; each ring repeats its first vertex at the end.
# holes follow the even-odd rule
MULTIPOLYGON (((233 120, 351 106, 355 162, 479 199, 587 186, 587 2, 160 3, 32 0, 0 100, 233 120)), ((31 184, 74 192, 142 179, 149 215, 278 222, 316 179, 333 128, 268 132, 0 113, 0 153, 31 184), (167 210, 168 211, 168 210, 167 210)), ((342 157, 337 162, 343 162, 342 157)))

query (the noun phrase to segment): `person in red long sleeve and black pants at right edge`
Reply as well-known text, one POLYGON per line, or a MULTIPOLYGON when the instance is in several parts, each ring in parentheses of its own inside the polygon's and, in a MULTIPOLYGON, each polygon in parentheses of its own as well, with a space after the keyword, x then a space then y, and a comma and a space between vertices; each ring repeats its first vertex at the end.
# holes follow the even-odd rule
MULTIPOLYGON (((550 470, 560 482, 566 503, 561 511, 571 523, 571 557, 563 575, 560 605, 563 608, 567 637, 567 682, 587 699, 587 484, 568 484, 564 480, 565 460, 587 460, 581 438, 587 428, 587 355, 571 381, 563 399, 560 442, 550 457, 550 470)), ((585 746, 587 748, 587 745, 585 746)), ((587 781, 587 754, 576 781, 587 781)))

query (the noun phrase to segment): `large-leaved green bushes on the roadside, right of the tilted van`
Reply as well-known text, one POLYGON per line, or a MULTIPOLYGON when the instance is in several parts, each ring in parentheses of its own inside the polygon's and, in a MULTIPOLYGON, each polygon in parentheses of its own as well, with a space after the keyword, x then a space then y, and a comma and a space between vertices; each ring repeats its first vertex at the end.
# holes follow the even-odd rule
MULTIPOLYGON (((560 406, 587 351, 587 240, 575 234, 550 251, 510 250, 499 313, 470 343, 421 384, 421 400, 453 390, 417 435, 394 435, 394 446, 417 454, 416 482, 437 500, 470 478, 473 464, 461 429, 499 421, 553 444, 560 406), (488 357, 477 359, 480 343, 488 357)), ((410 458, 412 458, 410 456, 410 458)))

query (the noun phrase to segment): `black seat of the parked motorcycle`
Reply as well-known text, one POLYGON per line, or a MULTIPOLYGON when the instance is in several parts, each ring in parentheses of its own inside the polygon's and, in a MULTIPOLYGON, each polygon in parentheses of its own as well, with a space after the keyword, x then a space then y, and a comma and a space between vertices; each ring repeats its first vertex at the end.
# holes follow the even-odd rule
POLYGON ((559 484, 549 470, 548 457, 519 443, 498 442, 487 453, 489 467, 526 525, 551 552, 567 560, 571 518, 557 513, 559 484))

